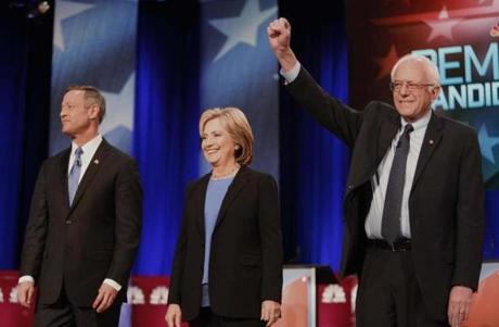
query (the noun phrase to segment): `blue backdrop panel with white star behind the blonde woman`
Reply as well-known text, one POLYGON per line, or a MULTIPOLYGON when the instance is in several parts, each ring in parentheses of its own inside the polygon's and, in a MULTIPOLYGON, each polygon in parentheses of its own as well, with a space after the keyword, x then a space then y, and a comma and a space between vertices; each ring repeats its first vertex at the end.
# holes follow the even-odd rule
MULTIPOLYGON (((279 84, 266 33, 277 0, 201 2, 200 109, 240 108, 255 136, 252 167, 279 180, 279 84)), ((209 169, 204 159, 201 167, 209 169)))

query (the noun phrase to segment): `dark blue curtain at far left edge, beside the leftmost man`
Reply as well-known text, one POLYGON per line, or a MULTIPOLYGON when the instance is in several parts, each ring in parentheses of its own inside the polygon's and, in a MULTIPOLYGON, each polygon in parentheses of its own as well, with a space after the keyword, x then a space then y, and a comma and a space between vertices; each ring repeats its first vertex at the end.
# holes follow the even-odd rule
POLYGON ((14 269, 33 187, 47 156, 52 16, 0 4, 0 269, 14 269))

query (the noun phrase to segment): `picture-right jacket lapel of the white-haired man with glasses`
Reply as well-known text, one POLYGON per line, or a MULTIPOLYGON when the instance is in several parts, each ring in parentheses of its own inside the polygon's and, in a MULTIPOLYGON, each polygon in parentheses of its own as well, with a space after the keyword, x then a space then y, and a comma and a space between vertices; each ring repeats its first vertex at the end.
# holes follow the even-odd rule
POLYGON ((444 121, 432 112, 432 117, 430 118, 426 133, 424 135, 423 144, 421 146, 420 156, 418 159, 418 164, 415 166, 414 179, 412 181, 412 188, 414 188, 418 179, 424 171, 430 158, 435 151, 438 142, 442 139, 442 134, 444 131, 444 121))

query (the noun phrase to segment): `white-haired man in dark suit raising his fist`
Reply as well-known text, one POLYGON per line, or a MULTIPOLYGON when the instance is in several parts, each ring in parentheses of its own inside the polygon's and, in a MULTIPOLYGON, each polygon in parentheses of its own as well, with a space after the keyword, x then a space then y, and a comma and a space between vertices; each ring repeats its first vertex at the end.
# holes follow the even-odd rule
POLYGON ((300 66, 285 18, 267 32, 292 97, 351 149, 341 275, 359 276, 357 326, 461 326, 482 263, 484 185, 476 133, 431 110, 437 68, 401 58, 395 108, 359 112, 300 66))

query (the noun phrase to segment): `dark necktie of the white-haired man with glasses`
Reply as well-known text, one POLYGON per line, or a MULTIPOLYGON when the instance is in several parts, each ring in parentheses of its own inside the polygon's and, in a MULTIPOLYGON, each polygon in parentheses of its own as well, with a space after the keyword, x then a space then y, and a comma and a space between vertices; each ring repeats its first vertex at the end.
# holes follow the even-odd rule
POLYGON ((381 235, 385 240, 393 243, 401 237, 400 216, 404 196, 404 184, 406 181, 407 155, 409 154, 410 137, 409 134, 414 128, 407 124, 404 134, 398 140, 395 149, 392 169, 389 171, 388 186, 386 187, 385 204, 383 207, 383 218, 381 235))

